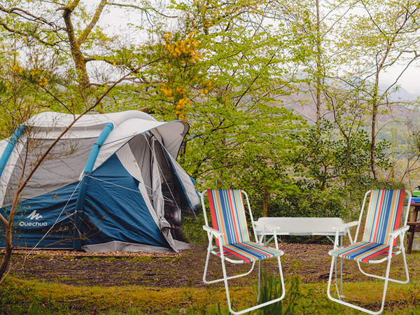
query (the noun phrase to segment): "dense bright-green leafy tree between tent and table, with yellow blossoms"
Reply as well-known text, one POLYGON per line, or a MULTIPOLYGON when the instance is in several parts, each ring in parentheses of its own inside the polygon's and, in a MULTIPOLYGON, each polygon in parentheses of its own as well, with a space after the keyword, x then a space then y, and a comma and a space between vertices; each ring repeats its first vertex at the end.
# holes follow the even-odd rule
POLYGON ((265 22, 274 7, 211 0, 176 9, 178 31, 162 26, 149 45, 166 62, 144 75, 144 108, 191 124, 181 163, 201 187, 247 188, 260 200, 275 194, 302 119, 279 102, 295 78, 279 21, 265 22))

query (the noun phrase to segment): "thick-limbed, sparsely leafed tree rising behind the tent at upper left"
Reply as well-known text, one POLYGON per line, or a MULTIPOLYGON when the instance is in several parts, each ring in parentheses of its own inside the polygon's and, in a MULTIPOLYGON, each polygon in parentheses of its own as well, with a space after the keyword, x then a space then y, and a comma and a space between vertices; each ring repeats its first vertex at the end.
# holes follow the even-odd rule
MULTIPOLYGON (((140 17, 144 14, 158 14, 158 10, 147 1, 136 0, 124 3, 101 0, 93 8, 89 3, 80 0, 68 1, 64 6, 59 1, 13 1, 7 6, 0 5, 0 26, 10 34, 27 41, 35 41, 43 48, 61 55, 63 67, 70 58, 73 66, 69 66, 67 70, 74 72, 83 90, 92 84, 106 83, 103 79, 112 77, 96 76, 95 79, 99 80, 91 82, 93 71, 98 67, 103 67, 114 76, 122 69, 132 71, 135 68, 135 62, 131 64, 133 60, 125 60, 123 55, 132 57, 135 52, 139 52, 139 43, 130 43, 127 47, 116 49, 114 43, 119 38, 108 36, 106 29, 98 25, 99 18, 110 11, 115 14, 116 10, 134 10, 140 17), (104 66, 105 64, 109 66, 104 66), (118 65, 120 68, 113 69, 113 66, 118 65)), ((137 22, 138 25, 142 24, 140 19, 137 22)))

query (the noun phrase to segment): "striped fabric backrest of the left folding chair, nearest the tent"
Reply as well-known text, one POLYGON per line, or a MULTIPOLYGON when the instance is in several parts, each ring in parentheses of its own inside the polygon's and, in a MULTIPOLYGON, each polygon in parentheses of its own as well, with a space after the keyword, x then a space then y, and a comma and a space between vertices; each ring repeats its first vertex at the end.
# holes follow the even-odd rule
MULTIPOLYGON (((241 190, 207 190, 213 228, 225 234, 225 244, 249 241, 241 190)), ((216 239, 216 245, 219 246, 216 239)))

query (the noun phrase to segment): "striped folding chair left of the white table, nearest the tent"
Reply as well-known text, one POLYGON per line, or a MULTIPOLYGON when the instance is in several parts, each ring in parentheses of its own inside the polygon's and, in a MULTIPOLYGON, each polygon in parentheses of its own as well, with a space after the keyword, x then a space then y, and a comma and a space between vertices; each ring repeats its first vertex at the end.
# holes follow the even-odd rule
MULTIPOLYGON (((203 226, 204 230, 207 231, 209 237, 209 248, 207 250, 206 265, 204 267, 203 281, 204 283, 216 283, 219 281, 225 282, 226 295, 228 297, 229 310, 232 314, 242 314, 247 311, 252 311, 260 307, 265 307, 269 304, 279 302, 283 299, 286 291, 284 289, 283 273, 281 271, 280 256, 283 255, 283 251, 280 251, 276 239, 276 227, 267 223, 258 223, 253 221, 251 213, 251 207, 249 205, 248 195, 243 190, 204 190, 201 193, 202 205, 204 211, 204 218, 206 225, 203 226), (204 206, 204 195, 208 194, 209 197, 209 209, 211 213, 211 221, 213 228, 209 227, 207 220, 206 208, 204 206), (248 225, 246 223, 246 214, 244 207, 243 195, 246 197, 248 204, 248 212, 251 218, 251 224, 253 228, 253 234, 255 242, 250 241, 248 234, 248 225), (274 241, 276 248, 270 248, 264 246, 258 241, 257 234, 255 232, 255 225, 262 226, 265 230, 274 232, 274 241), (214 246, 214 238, 216 240, 216 246, 214 246), (217 255, 221 258, 223 278, 212 281, 207 281, 207 268, 209 266, 210 253, 217 255), (229 295, 228 280, 238 278, 240 276, 246 276, 253 271, 253 267, 256 261, 260 261, 267 258, 277 258, 279 263, 279 274, 281 279, 281 297, 274 298, 268 302, 260 303, 248 309, 241 311, 232 310, 229 295), (235 276, 228 276, 226 273, 225 261, 232 262, 235 264, 241 264, 245 262, 252 262, 251 269, 244 273, 235 276)), ((261 237, 262 240, 262 237, 261 237)), ((258 296, 260 293, 258 292, 258 296)))

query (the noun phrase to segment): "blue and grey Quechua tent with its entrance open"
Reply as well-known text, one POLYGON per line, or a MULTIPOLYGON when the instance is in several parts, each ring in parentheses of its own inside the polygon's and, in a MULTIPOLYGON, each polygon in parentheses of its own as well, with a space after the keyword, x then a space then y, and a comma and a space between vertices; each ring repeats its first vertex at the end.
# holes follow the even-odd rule
MULTIPOLYGON (((0 207, 10 211, 22 171, 74 120, 44 112, 0 141, 0 207)), ((20 195, 13 246, 88 252, 179 251, 183 215, 200 204, 176 162, 189 126, 140 111, 82 116, 20 195)), ((0 231, 0 246, 5 246, 0 231)))

